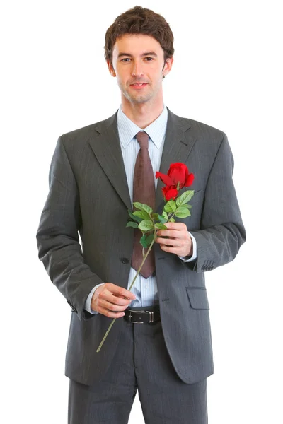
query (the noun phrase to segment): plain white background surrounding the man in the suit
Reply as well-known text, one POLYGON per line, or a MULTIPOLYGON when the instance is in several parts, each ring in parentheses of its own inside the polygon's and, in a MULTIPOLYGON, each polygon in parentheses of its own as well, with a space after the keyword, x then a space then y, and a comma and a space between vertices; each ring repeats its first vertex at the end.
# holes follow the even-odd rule
MULTIPOLYGON (((37 259, 35 233, 59 135, 120 105, 104 35, 135 6, 1 6, 1 423, 67 423, 70 307, 37 259)), ((166 105, 225 131, 247 242, 207 273, 215 373, 209 423, 282 423, 282 19, 279 1, 139 1, 175 35, 166 105), (280 40, 281 38, 281 40, 280 40)), ((144 423, 138 396, 129 423, 144 423)))

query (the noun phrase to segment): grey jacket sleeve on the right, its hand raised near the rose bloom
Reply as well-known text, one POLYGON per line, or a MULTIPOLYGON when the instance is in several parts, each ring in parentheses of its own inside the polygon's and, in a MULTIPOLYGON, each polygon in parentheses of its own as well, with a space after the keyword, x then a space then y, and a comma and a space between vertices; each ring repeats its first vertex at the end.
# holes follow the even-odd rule
POLYGON ((197 273, 233 261, 246 241, 232 179, 233 166, 233 154, 224 134, 207 179, 200 230, 190 230, 197 242, 197 259, 183 263, 197 273))

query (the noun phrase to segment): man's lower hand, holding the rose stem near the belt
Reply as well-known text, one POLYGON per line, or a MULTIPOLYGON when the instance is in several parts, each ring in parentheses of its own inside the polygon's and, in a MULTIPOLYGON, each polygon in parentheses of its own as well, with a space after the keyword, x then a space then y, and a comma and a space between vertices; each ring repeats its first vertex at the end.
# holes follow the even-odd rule
POLYGON ((121 318, 124 317, 125 313, 120 311, 124 311, 135 298, 134 293, 120 287, 120 285, 105 283, 100 285, 93 293, 91 309, 105 315, 105 317, 121 318))

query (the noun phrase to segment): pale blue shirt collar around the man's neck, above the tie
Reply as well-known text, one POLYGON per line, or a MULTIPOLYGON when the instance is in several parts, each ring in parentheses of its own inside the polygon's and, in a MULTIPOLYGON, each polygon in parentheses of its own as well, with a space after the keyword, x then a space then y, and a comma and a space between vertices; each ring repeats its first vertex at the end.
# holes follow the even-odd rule
POLYGON ((139 126, 134 124, 134 122, 132 122, 124 112, 122 112, 122 106, 120 105, 117 113, 117 126, 122 147, 127 148, 129 143, 132 141, 132 139, 134 139, 134 136, 139 131, 146 131, 146 133, 149 134, 151 141, 154 142, 155 146, 160 148, 166 134, 167 119, 168 110, 164 105, 163 111, 158 116, 158 118, 156 118, 154 122, 151 122, 149 126, 146 126, 146 128, 141 129, 139 126))

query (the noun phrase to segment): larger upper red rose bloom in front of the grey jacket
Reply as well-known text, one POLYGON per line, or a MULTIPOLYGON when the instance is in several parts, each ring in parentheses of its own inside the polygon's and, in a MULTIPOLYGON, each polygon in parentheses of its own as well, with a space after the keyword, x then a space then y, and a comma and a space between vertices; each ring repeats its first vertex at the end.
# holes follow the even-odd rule
POLYGON ((185 163, 176 162, 171 163, 167 175, 156 172, 156 178, 160 178, 171 189, 176 188, 178 182, 180 182, 179 189, 183 189, 183 187, 189 187, 192 184, 194 175, 189 173, 185 163))

